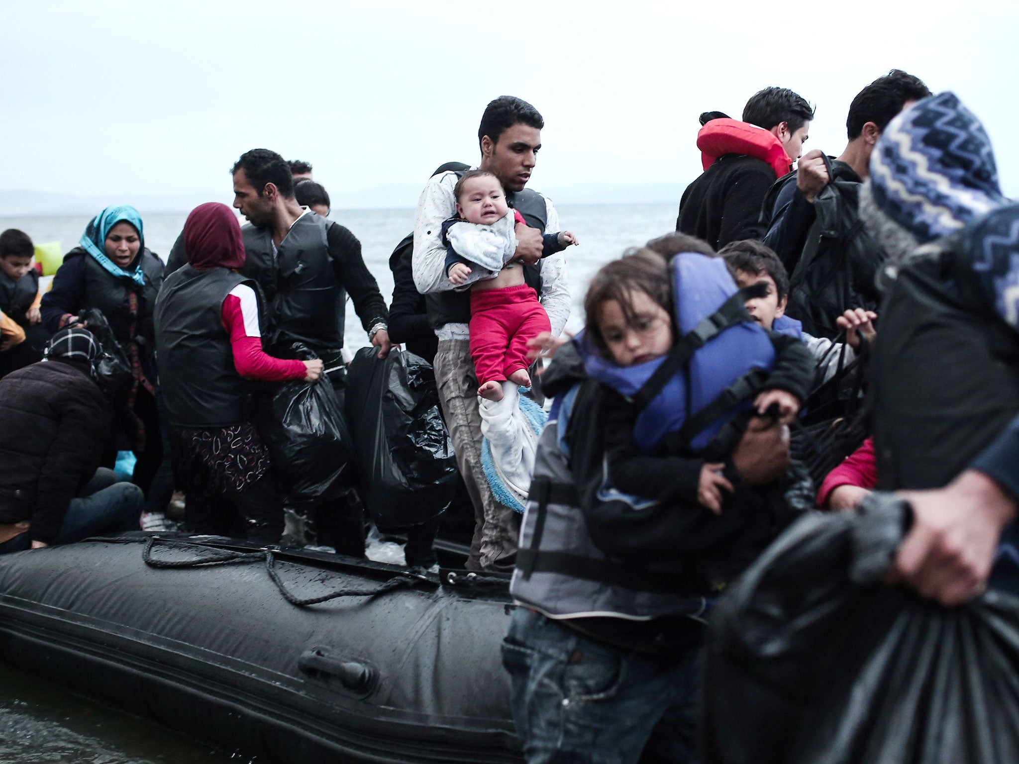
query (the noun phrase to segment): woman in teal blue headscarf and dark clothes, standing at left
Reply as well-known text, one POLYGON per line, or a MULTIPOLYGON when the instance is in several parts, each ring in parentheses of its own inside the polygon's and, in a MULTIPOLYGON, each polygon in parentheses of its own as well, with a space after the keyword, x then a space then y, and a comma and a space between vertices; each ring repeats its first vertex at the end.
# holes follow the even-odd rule
POLYGON ((102 311, 109 322, 135 379, 125 395, 110 401, 113 426, 105 462, 112 467, 116 451, 135 451, 135 483, 146 495, 163 458, 152 314, 164 268, 145 245, 138 210, 128 205, 107 207, 89 223, 78 245, 64 256, 41 306, 43 322, 53 332, 75 323, 78 314, 90 309, 102 311))

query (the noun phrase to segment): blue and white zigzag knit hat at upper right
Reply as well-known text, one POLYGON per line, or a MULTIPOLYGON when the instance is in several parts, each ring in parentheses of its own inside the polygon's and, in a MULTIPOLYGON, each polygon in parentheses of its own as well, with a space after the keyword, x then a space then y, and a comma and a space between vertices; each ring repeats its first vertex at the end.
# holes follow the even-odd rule
MULTIPOLYGON (((987 133, 954 93, 930 96, 884 128, 870 156, 870 177, 861 198, 868 226, 874 214, 922 244, 959 230, 1005 202, 987 133)), ((882 243, 887 226, 878 232, 882 243)), ((892 236, 895 238, 895 236, 892 236)), ((896 247, 895 244, 900 244, 896 247)))

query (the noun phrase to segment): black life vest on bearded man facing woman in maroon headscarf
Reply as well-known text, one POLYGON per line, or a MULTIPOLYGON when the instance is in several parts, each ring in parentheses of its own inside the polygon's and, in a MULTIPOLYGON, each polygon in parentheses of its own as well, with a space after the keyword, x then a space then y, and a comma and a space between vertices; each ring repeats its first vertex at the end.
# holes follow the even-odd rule
POLYGON ((306 213, 273 252, 272 229, 243 226, 245 265, 240 273, 256 281, 268 305, 267 344, 300 341, 320 358, 343 346, 346 290, 329 254, 329 226, 336 223, 306 213))

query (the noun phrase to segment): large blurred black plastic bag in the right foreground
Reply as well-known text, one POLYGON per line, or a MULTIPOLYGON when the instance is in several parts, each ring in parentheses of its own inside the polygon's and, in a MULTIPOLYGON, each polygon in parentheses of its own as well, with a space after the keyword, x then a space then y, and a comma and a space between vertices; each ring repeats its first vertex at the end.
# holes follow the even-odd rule
POLYGON ((1019 761, 1019 599, 946 608, 881 583, 911 511, 802 519, 712 615, 707 764, 1019 761))

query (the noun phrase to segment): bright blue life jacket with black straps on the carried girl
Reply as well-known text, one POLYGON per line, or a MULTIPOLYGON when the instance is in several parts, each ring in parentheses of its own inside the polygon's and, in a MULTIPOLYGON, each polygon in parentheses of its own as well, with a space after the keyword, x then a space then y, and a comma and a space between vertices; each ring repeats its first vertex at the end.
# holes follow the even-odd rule
POLYGON ((767 333, 746 312, 746 301, 765 288, 738 289, 721 258, 677 255, 673 277, 673 349, 637 366, 606 360, 583 333, 575 338, 587 374, 642 408, 634 428, 637 446, 658 450, 677 433, 703 450, 734 415, 750 406, 774 367, 767 333))

